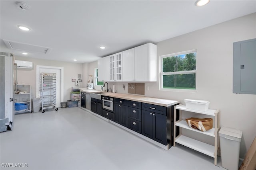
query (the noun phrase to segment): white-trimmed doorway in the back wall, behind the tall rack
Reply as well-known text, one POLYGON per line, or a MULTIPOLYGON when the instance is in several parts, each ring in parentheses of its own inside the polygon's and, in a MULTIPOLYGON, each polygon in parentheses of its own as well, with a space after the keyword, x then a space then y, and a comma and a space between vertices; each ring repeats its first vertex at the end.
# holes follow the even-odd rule
POLYGON ((60 102, 64 100, 64 68, 54 66, 36 66, 36 97, 40 98, 40 74, 41 72, 56 73, 56 107, 60 107, 60 102))

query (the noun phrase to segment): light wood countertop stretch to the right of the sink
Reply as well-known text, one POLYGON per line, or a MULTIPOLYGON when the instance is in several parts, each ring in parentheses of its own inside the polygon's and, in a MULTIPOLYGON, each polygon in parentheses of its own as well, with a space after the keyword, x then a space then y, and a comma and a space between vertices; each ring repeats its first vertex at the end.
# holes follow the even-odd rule
POLYGON ((113 97, 113 98, 132 100, 132 101, 142 102, 142 103, 147 103, 147 104, 154 104, 154 105, 158 105, 158 106, 165 106, 165 107, 180 103, 180 101, 178 101, 178 100, 151 98, 151 97, 137 96, 137 95, 132 95, 132 94, 102 93, 101 95, 109 96, 109 97, 113 97))

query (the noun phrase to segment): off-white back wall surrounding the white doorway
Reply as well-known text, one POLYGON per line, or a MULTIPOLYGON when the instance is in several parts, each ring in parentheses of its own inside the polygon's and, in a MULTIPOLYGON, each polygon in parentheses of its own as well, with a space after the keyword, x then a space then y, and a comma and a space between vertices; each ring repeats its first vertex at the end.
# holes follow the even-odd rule
POLYGON ((78 63, 68 63, 63 61, 52 61, 52 60, 43 60, 35 59, 30 57, 20 57, 15 56, 16 60, 22 61, 32 61, 32 69, 18 69, 17 71, 17 80, 18 84, 31 84, 32 88, 32 98, 36 98, 36 65, 43 66, 56 66, 64 68, 64 101, 70 100, 70 92, 72 87, 75 86, 75 82, 72 82, 72 78, 78 78, 78 74, 82 74, 82 64, 78 63))

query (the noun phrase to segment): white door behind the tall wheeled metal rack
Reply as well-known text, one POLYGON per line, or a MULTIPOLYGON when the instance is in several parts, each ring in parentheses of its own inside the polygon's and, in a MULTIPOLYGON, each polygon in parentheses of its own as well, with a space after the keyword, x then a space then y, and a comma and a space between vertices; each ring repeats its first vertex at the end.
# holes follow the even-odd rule
POLYGON ((45 73, 56 73, 56 107, 60 107, 60 102, 61 102, 61 69, 58 68, 43 68, 39 67, 37 70, 36 74, 38 75, 38 79, 36 82, 36 94, 37 97, 40 98, 40 91, 39 91, 39 86, 40 86, 40 74, 41 72, 45 73))

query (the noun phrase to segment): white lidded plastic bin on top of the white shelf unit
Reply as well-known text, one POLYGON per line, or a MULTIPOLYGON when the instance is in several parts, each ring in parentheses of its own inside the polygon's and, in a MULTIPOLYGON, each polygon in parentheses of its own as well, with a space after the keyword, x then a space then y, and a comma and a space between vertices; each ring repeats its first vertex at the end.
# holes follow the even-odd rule
POLYGON ((187 109, 199 110, 199 111, 207 111, 209 109, 210 102, 207 100, 192 100, 185 99, 187 109))

